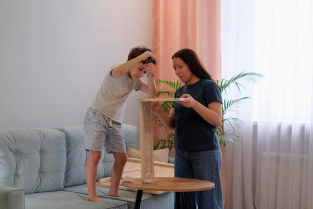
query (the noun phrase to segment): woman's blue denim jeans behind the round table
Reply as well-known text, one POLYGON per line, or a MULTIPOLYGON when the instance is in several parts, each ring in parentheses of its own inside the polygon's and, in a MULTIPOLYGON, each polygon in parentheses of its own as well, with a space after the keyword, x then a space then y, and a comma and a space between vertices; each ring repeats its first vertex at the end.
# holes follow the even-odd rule
POLYGON ((220 149, 210 151, 182 151, 175 149, 175 177, 196 178, 215 183, 215 187, 209 190, 187 192, 188 209, 223 208, 223 196, 219 177, 220 167, 220 149))

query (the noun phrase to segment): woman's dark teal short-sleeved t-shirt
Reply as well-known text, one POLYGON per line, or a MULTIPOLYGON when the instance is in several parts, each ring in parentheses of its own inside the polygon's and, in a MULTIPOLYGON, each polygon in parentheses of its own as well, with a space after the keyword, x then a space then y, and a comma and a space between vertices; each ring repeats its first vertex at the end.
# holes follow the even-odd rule
MULTIPOLYGON (((188 93, 195 100, 207 107, 213 101, 222 103, 218 85, 210 79, 200 79, 192 85, 187 83, 175 92, 175 98, 188 93)), ((219 148, 217 127, 206 122, 193 108, 173 102, 175 110, 175 149, 184 151, 204 151, 219 148)))

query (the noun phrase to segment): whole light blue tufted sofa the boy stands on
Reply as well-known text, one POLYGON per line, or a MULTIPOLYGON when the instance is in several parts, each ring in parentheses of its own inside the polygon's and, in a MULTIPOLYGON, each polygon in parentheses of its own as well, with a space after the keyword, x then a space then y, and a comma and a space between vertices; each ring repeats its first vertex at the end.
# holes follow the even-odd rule
MULTIPOLYGON (((138 128, 122 124, 126 145, 138 148, 138 128)), ((122 190, 127 198, 107 196, 107 187, 97 186, 107 204, 86 201, 83 126, 54 129, 19 128, 0 130, 0 209, 35 208, 133 208, 135 191, 122 190)), ((114 162, 104 149, 97 179, 110 176, 114 162)), ((143 193, 140 208, 174 208, 173 192, 143 193)))

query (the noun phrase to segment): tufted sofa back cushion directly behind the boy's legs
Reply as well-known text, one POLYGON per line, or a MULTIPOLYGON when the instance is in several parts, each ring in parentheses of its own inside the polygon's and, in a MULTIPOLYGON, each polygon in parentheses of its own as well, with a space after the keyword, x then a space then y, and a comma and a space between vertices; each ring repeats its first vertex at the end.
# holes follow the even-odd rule
MULTIPOLYGON (((121 128, 125 143, 131 147, 137 147, 138 128, 129 124, 122 124, 121 128)), ((83 125, 68 125, 57 127, 56 129, 64 132, 66 135, 67 160, 64 186, 67 187, 85 183, 85 163, 89 152, 85 151, 84 148, 83 125)), ((97 166, 97 179, 110 176, 113 163, 113 154, 106 153, 103 148, 97 166)))

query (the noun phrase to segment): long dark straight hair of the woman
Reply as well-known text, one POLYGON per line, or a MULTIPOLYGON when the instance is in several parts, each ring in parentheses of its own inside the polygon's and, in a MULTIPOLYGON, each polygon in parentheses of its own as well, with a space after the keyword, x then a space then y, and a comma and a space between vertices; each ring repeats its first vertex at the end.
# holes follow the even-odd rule
POLYGON ((179 57, 183 62, 185 62, 191 72, 199 78, 208 78, 212 80, 211 75, 206 71, 202 62, 200 61, 198 55, 189 48, 183 48, 178 50, 171 56, 171 59, 179 57))

